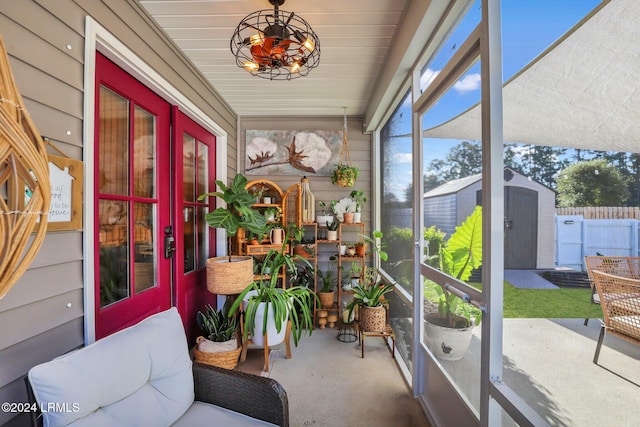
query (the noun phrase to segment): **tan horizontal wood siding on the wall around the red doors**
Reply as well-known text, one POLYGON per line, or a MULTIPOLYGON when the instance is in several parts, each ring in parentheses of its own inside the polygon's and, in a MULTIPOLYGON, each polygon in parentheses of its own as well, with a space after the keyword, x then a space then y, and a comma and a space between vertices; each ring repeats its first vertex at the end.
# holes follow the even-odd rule
MULTIPOLYGON (((82 159, 88 15, 227 132, 227 173, 235 174, 235 113, 135 0, 0 2, 0 34, 39 132, 82 159)), ((32 366, 83 345, 83 288, 93 283, 83 282, 82 239, 81 231, 48 233, 29 270, 0 300, 0 401, 24 401, 23 377, 32 366)), ((0 425, 24 425, 26 418, 14 415, 0 413, 0 425)))

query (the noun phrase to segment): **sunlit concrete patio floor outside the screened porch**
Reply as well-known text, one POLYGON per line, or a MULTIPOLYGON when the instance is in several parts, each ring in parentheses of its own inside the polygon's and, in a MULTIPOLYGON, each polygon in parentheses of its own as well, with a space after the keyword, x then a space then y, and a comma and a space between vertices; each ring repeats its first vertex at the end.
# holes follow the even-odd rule
MULTIPOLYGON (((592 362, 600 322, 505 319, 503 378, 552 426, 636 426, 640 420, 640 347, 605 337, 592 362)), ((442 363, 478 408, 480 328, 463 360, 442 363)), ((514 425, 506 420, 505 426, 514 425)))

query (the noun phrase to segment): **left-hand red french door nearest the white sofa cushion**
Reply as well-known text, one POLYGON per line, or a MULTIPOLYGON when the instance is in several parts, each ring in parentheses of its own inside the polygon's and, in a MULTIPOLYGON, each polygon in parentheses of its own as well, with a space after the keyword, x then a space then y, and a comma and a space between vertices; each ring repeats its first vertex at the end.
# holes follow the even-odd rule
POLYGON ((98 53, 95 117, 95 332, 101 338, 171 306, 171 258, 164 253, 171 109, 98 53))

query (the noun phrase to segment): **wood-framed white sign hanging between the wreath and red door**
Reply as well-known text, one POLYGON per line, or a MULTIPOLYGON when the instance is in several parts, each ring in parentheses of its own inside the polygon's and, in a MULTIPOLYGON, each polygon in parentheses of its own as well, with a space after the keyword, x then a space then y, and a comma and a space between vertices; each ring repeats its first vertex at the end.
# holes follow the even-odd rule
POLYGON ((82 161, 49 155, 48 231, 82 229, 82 161))

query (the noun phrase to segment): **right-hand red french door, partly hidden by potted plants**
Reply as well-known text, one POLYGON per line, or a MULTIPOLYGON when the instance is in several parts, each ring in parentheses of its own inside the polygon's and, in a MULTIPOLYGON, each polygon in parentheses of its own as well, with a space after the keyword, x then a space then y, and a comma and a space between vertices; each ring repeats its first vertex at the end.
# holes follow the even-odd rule
POLYGON ((206 304, 215 307, 215 298, 207 291, 205 266, 215 240, 213 229, 207 227, 204 215, 210 200, 198 196, 215 191, 215 144, 210 132, 173 107, 174 158, 176 185, 175 232, 176 307, 193 342, 197 334, 196 313, 206 304))

